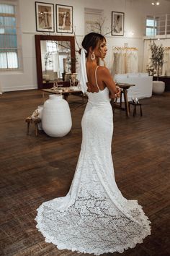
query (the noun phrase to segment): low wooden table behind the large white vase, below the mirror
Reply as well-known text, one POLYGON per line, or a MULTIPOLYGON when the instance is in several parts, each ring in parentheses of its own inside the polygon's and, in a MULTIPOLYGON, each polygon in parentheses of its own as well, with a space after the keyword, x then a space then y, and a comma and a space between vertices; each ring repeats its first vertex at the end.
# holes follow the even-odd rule
POLYGON ((71 94, 74 94, 74 95, 81 95, 82 94, 81 90, 71 90, 69 88, 58 88, 56 90, 42 89, 43 98, 44 98, 44 93, 53 93, 53 94, 58 94, 58 95, 61 94, 61 95, 63 95, 63 98, 66 101, 68 101, 68 96, 71 95, 71 94))

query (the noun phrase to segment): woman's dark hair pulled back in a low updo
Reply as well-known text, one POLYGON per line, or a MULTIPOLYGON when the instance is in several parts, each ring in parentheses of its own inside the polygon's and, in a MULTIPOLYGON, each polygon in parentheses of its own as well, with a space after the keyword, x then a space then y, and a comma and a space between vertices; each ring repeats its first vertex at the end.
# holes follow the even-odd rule
MULTIPOLYGON (((91 33, 85 35, 84 40, 81 43, 81 46, 83 46, 83 48, 87 51, 86 56, 88 56, 88 54, 89 54, 90 47, 92 49, 96 48, 97 44, 99 42, 102 42, 103 40, 106 40, 106 38, 104 38, 104 35, 101 35, 98 33, 91 32, 91 33)), ((81 53, 81 49, 79 51, 79 54, 80 53, 81 53)))

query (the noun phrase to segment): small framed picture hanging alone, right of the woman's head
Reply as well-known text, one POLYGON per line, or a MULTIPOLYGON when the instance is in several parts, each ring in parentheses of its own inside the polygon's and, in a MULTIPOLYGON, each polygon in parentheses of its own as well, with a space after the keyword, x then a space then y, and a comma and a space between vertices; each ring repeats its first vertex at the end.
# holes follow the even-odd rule
POLYGON ((112 35, 124 35, 124 12, 112 12, 112 35))

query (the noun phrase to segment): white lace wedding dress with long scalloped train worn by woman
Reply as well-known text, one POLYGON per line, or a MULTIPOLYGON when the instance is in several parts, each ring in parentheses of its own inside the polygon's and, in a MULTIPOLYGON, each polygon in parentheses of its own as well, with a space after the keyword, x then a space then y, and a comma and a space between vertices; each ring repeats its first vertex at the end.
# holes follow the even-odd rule
POLYGON ((151 234, 151 222, 138 201, 125 199, 115 182, 109 90, 88 93, 88 97, 71 188, 66 197, 40 205, 37 229, 45 242, 56 244, 58 249, 94 255, 123 252, 151 234))

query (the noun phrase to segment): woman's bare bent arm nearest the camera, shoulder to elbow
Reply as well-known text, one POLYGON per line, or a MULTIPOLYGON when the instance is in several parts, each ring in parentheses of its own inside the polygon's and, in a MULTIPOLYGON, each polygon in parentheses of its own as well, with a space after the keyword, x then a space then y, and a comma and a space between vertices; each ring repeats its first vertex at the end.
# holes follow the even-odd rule
POLYGON ((102 81, 107 86, 110 92, 110 98, 120 97, 120 88, 115 85, 114 80, 112 79, 109 69, 102 67, 100 71, 102 81))

